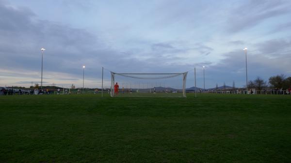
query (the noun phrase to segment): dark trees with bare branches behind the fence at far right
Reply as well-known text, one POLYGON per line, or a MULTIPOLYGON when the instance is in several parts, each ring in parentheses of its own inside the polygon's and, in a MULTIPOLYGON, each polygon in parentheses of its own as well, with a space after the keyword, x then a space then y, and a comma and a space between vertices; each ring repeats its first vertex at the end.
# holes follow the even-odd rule
POLYGON ((290 89, 291 76, 286 77, 284 74, 271 76, 268 82, 258 76, 255 80, 250 80, 248 82, 248 88, 255 88, 257 90, 262 90, 265 88, 283 90, 290 89))

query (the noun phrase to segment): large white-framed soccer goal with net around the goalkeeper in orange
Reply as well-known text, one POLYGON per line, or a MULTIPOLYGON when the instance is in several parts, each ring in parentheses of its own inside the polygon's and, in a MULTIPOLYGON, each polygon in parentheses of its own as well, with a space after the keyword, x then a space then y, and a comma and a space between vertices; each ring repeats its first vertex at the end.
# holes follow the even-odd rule
POLYGON ((186 97, 187 73, 125 74, 111 72, 110 95, 111 97, 186 97))

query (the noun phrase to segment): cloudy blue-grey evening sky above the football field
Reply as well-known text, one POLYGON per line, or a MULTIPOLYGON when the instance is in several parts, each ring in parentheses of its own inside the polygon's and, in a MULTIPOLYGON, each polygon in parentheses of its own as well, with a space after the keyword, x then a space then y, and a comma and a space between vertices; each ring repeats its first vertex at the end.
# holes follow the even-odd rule
POLYGON ((110 72, 183 73, 187 88, 291 76, 290 0, 0 0, 0 86, 100 88, 110 72))

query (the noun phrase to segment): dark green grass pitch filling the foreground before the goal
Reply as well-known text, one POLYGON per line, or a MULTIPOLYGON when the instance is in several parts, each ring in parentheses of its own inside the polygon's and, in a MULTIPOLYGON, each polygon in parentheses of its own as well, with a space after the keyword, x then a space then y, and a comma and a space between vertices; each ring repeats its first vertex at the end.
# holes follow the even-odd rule
POLYGON ((0 162, 291 161, 291 96, 187 96, 0 96, 0 162))

